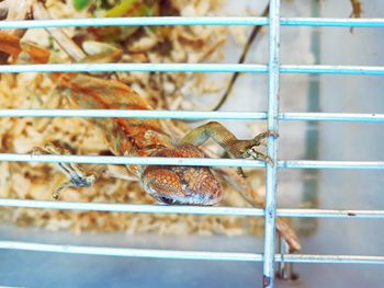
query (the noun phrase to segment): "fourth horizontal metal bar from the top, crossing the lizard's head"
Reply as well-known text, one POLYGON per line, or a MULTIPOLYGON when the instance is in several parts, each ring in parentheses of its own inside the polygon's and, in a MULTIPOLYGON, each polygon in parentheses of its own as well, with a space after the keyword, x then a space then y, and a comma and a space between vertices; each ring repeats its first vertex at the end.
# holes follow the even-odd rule
MULTIPOLYGON (((266 168, 262 161, 247 159, 211 158, 162 158, 162 157, 115 157, 115 155, 57 155, 57 154, 18 154, 0 153, 0 162, 42 162, 42 163, 82 163, 115 165, 183 165, 183 166, 244 166, 266 168)), ((282 169, 345 169, 345 170, 384 170, 384 161, 318 161, 281 160, 282 169)))

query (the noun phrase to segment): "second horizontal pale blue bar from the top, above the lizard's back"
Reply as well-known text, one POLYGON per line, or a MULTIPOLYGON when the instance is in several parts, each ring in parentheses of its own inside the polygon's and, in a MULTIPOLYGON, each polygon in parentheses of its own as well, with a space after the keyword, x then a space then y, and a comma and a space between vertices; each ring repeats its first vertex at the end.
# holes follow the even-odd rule
MULTIPOLYGON (((5 21, 2 21, 5 22, 5 21)), ((0 22, 1 23, 1 22, 0 22)), ((266 65, 256 64, 35 64, 0 65, 0 73, 21 72, 242 72, 266 73, 266 65)), ((382 66, 282 65, 281 73, 327 73, 383 76, 382 66)))

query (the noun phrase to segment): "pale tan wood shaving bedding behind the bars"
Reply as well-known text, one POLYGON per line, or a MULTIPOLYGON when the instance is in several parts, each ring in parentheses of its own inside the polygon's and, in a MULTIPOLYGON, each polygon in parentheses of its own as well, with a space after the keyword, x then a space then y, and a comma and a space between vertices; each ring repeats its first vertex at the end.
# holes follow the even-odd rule
MULTIPOLYGON (((68 1, 70 2, 70 1, 68 1)), ((181 15, 212 15, 221 1, 172 0, 173 9, 181 15)), ((46 7, 55 18, 89 16, 76 12, 70 3, 47 1, 46 7)), ((70 36, 81 30, 68 28, 70 36)), ((126 62, 196 62, 219 61, 221 49, 228 35, 219 26, 174 26, 153 32, 144 28, 132 42, 122 42, 123 61, 126 62), (165 44, 166 43, 166 44, 165 44), (171 47, 163 53, 161 45, 171 47), (160 46, 159 46, 160 45, 160 46), (160 47, 160 48, 159 48, 160 47)), ((26 39, 38 39, 38 44, 66 55, 42 31, 27 31, 26 39)), ((129 38, 128 38, 129 39, 129 38)), ((147 97, 156 108, 193 107, 187 95, 204 95, 222 88, 206 81, 201 73, 142 73, 118 72, 110 76, 132 85, 147 97), (179 103, 179 105, 174 105, 179 103), (173 104, 173 106, 171 106, 173 104)), ((69 108, 69 104, 55 91, 55 83, 44 73, 20 73, 0 76, 0 108, 69 108)), ((179 129, 184 124, 172 122, 179 129)), ((105 154, 109 149, 100 130, 81 118, 0 118, 0 151, 31 153, 36 146, 59 142, 69 146, 77 154, 105 154)), ((0 163, 0 197, 21 199, 52 199, 55 185, 64 175, 49 163, 0 163)), ((251 177, 249 178, 251 181, 251 177)), ((224 182, 224 181, 223 181, 224 182)), ((260 181, 255 182, 257 186, 260 181)), ((261 183, 262 184, 262 183, 261 183)), ((225 186, 224 206, 246 206, 242 198, 229 185, 225 186)), ((103 176, 92 187, 68 188, 63 193, 64 201, 99 201, 153 204, 136 182, 126 182, 103 176)), ((18 226, 41 227, 52 231, 82 231, 159 234, 226 234, 239 235, 262 232, 262 218, 153 215, 102 211, 70 211, 49 209, 1 208, 0 219, 18 226)))

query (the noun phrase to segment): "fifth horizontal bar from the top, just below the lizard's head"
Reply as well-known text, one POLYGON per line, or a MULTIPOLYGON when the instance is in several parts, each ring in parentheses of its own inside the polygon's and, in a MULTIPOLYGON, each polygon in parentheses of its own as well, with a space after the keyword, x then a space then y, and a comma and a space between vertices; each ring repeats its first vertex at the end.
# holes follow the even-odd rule
MULTIPOLYGON (((143 212, 143 214, 193 214, 193 215, 226 215, 263 217, 261 208, 246 207, 208 207, 208 206, 167 206, 167 205, 137 205, 137 204, 111 204, 111 203, 76 203, 76 201, 48 201, 29 199, 0 198, 0 206, 59 209, 59 210, 92 210, 111 212, 143 212)), ((338 210, 338 209, 278 209, 279 217, 305 217, 305 218, 360 218, 384 219, 384 210, 338 210)))

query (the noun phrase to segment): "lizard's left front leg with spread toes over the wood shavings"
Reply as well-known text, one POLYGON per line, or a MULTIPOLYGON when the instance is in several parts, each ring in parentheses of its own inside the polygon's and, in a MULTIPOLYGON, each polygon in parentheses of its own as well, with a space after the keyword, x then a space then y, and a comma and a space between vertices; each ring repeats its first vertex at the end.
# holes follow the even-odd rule
MULTIPOLYGON (((46 143, 43 148, 36 147, 32 151, 33 154, 69 154, 69 151, 61 149, 53 143, 46 143)), ((69 178, 63 183, 54 193, 55 199, 59 198, 60 192, 67 187, 89 187, 105 171, 103 165, 90 165, 88 168, 80 166, 75 163, 59 162, 60 171, 69 178)))

